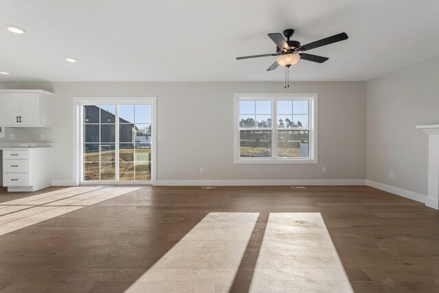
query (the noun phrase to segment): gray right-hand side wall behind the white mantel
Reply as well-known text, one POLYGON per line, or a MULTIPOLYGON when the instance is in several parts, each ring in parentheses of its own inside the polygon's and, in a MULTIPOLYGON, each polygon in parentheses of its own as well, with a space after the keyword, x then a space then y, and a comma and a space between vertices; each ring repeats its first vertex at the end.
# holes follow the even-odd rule
POLYGON ((428 136, 415 126, 439 124, 439 55, 370 80, 367 95, 368 180, 426 195, 428 136))

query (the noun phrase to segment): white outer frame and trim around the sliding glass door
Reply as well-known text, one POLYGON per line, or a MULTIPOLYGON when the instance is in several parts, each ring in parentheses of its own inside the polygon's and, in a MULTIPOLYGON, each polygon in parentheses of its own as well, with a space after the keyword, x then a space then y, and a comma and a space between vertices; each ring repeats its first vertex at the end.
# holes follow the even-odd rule
MULTIPOLYGON (((115 121, 116 122, 116 121, 115 121)), ((73 185, 156 185, 157 97, 73 97, 73 185), (151 105, 151 180, 84 181, 82 180, 82 108, 86 105, 151 105)), ((117 125, 117 124, 116 124, 117 125)), ((117 127, 116 127, 117 128, 117 127)), ((119 132, 119 129, 115 129, 119 132)), ((118 151, 116 151, 116 154, 118 151)), ((116 164, 119 164, 116 158, 116 164)), ((117 176, 117 174, 116 174, 117 176)), ((116 177, 117 178, 117 177, 116 177)))

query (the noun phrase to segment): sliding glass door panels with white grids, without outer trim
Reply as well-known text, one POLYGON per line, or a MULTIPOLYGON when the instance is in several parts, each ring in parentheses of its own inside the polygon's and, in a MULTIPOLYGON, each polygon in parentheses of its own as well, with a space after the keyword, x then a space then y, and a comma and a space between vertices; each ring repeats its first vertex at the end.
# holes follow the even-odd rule
POLYGON ((82 183, 152 180, 152 104, 82 105, 82 183))

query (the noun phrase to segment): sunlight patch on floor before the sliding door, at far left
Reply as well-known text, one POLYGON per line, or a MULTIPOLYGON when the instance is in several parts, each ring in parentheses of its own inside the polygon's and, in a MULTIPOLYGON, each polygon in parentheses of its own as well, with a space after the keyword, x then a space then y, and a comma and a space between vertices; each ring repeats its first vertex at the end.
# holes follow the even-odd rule
POLYGON ((0 235, 97 204, 140 187, 69 187, 0 203, 0 235))

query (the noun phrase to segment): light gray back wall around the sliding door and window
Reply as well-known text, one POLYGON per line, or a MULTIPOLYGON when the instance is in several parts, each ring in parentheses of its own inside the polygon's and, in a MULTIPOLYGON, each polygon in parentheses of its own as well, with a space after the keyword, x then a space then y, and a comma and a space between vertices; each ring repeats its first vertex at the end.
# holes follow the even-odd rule
POLYGON ((233 94, 285 93, 281 82, 8 82, 2 87, 55 93, 51 130, 6 133, 14 131, 16 141, 38 141, 45 133, 54 141, 54 180, 73 178, 72 97, 78 96, 157 97, 163 135, 158 180, 366 178, 366 82, 290 84, 292 93, 318 93, 317 165, 233 164, 233 94))

